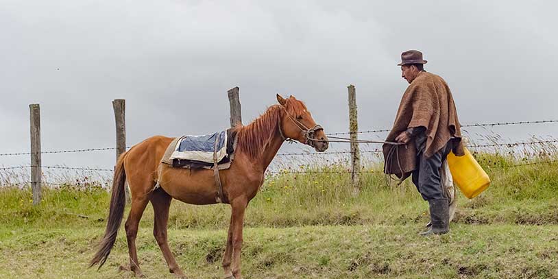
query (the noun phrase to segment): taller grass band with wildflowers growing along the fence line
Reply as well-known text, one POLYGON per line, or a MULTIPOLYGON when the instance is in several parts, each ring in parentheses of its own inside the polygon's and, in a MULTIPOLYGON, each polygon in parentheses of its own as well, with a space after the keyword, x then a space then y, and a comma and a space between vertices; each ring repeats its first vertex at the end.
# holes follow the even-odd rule
MULTIPOLYGON (((507 167, 516 164, 501 156, 479 158, 492 178, 480 197, 459 197, 457 223, 558 224, 558 163, 507 167), (498 160, 498 165, 492 162, 498 160)), ((338 171, 332 166, 319 171, 338 171)), ((302 169, 301 169, 302 170, 302 169)), ((313 169, 317 171, 317 169, 313 169)), ((386 186, 380 173, 364 173, 362 188, 354 195, 348 173, 284 173, 267 179, 250 203, 249 227, 315 225, 405 225, 428 219, 428 205, 409 180, 386 186)), ((19 228, 104 226, 109 193, 98 186, 86 189, 62 186, 44 189, 43 202, 32 206, 30 189, 0 189, 0 223, 19 228)), ((191 206, 174 201, 170 228, 224 228, 226 205, 191 206)), ((141 226, 153 219, 148 206, 141 226)))

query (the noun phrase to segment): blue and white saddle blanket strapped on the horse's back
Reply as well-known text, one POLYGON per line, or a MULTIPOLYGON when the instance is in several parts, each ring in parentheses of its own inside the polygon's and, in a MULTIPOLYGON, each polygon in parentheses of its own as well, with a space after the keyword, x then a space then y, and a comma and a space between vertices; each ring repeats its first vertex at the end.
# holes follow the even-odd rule
POLYGON ((167 147, 161 162, 171 167, 213 169, 215 151, 218 168, 228 169, 235 147, 236 133, 232 129, 204 136, 180 136, 167 147))

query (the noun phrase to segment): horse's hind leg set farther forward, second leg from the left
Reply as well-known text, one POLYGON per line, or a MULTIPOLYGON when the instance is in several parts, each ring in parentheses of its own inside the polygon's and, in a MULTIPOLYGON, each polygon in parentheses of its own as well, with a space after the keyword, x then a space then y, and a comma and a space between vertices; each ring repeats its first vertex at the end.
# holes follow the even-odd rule
POLYGON ((171 207, 171 200, 173 198, 167 194, 163 189, 157 189, 151 195, 151 205, 155 213, 155 226, 153 228, 153 235, 157 244, 161 248, 162 255, 167 260, 169 271, 178 278, 186 278, 169 248, 167 242, 167 222, 169 221, 169 208, 171 207))

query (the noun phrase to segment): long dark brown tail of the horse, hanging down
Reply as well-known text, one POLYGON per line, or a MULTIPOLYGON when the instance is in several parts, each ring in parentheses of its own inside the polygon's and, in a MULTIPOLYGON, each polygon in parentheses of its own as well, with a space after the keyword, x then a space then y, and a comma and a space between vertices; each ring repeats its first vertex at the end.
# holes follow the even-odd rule
POLYGON ((125 182, 126 173, 124 169, 124 158, 128 152, 123 153, 117 161, 116 169, 114 169, 114 179, 112 180, 112 195, 110 196, 110 210, 108 211, 108 221, 103 239, 99 243, 99 251, 91 260, 89 267, 93 267, 99 263, 99 269, 104 265, 110 250, 117 239, 118 229, 124 216, 124 207, 126 205, 125 182))

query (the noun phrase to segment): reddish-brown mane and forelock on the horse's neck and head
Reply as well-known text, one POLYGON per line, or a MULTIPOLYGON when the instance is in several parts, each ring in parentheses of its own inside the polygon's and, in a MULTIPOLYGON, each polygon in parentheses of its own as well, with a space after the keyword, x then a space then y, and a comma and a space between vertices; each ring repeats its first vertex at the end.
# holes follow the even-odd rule
MULTIPOLYGON (((306 106, 302 101, 298 101, 294 97, 285 99, 284 108, 293 117, 304 113, 306 106)), ((248 125, 238 124, 234 127, 234 131, 238 135, 238 143, 236 148, 245 152, 251 158, 258 158, 267 144, 278 130, 278 125, 282 117, 283 108, 276 104, 267 108, 258 118, 254 119, 248 125)))

